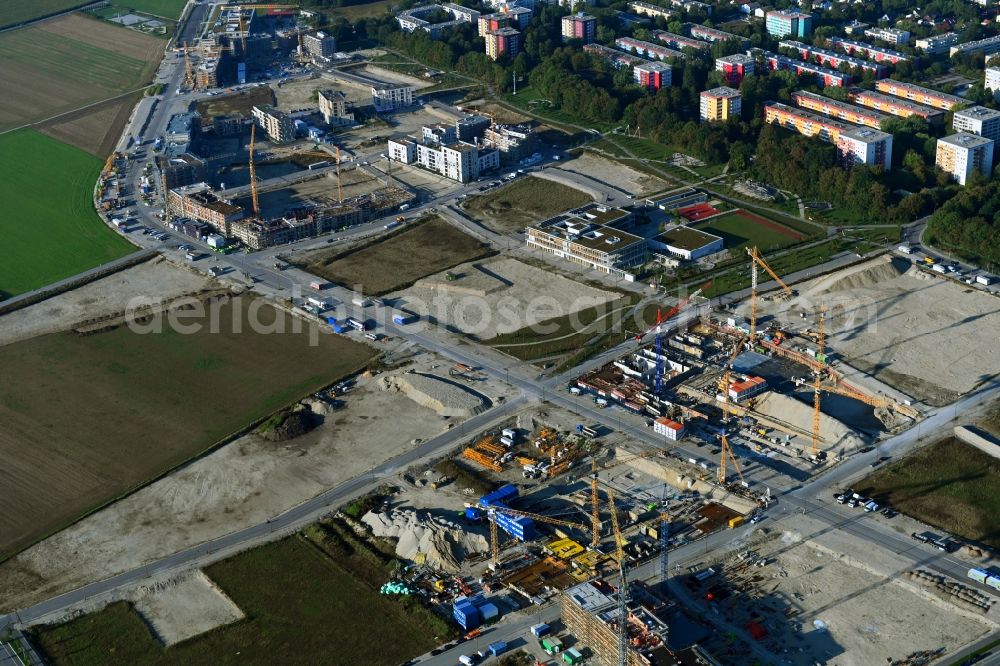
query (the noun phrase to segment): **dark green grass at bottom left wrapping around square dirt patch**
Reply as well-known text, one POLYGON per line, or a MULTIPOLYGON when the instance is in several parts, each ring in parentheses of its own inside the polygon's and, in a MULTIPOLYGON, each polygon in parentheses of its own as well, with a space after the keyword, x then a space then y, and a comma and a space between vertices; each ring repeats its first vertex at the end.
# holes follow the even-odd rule
MULTIPOLYGON (((307 531, 322 530, 313 526, 307 531)), ((429 611, 412 600, 378 593, 368 580, 378 565, 358 563, 357 557, 342 559, 340 552, 332 556, 316 544, 290 537, 206 569, 247 619, 169 648, 161 647, 141 616, 124 603, 42 628, 36 640, 56 666, 98 666, 109 659, 130 666, 397 666, 447 637, 434 639, 429 611)), ((384 569, 381 576, 383 581, 388 577, 384 569)))

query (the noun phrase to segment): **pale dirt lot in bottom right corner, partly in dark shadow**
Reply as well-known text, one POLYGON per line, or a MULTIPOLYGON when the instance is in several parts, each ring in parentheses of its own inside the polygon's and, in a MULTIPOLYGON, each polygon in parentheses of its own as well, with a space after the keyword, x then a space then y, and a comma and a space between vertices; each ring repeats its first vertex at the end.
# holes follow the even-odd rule
MULTIPOLYGON (((741 568, 731 554, 709 589, 725 580, 743 590, 721 598, 717 610, 739 628, 757 621, 767 631, 757 646, 776 657, 871 666, 918 650, 952 650, 993 628, 905 584, 905 567, 889 551, 860 549, 853 537, 803 516, 770 532, 761 538, 758 530, 750 543, 765 566, 741 568), (858 553, 864 562, 840 553, 858 553)), ((723 634, 713 640, 725 654, 723 634)))

